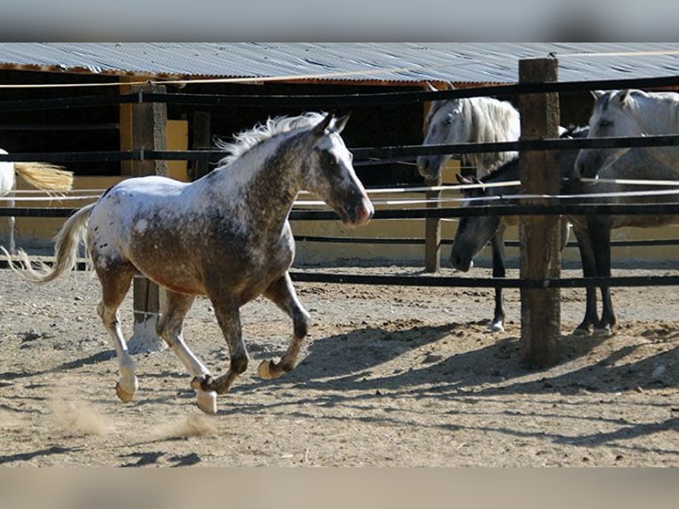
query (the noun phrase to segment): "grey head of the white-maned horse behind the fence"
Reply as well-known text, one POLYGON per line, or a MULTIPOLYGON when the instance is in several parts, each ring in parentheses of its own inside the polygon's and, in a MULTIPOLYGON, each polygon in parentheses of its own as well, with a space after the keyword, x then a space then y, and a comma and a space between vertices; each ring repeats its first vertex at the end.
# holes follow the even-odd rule
MULTIPOLYGON (((433 101, 426 117, 426 134, 422 145, 448 145, 469 141, 472 128, 469 121, 464 121, 464 105, 464 99, 433 101)), ((438 178, 441 167, 449 161, 451 155, 419 156, 419 174, 425 178, 438 178)))

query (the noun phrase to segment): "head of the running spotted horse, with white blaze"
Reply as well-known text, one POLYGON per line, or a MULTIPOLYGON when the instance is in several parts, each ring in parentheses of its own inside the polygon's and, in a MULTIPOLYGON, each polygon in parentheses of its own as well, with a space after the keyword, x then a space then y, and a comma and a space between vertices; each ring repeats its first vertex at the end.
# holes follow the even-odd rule
POLYGON ((368 223, 375 210, 340 136, 348 118, 348 114, 338 119, 328 114, 311 129, 313 148, 302 166, 302 185, 332 207, 345 224, 359 226, 368 223))

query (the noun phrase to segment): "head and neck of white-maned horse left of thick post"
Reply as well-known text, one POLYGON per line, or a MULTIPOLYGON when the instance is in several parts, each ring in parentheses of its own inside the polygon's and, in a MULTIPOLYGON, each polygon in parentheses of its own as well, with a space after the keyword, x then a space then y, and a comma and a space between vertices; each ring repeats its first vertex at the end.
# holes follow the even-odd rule
MULTIPOLYGON (((433 87, 431 87, 431 90, 433 87)), ((432 101, 425 119, 422 145, 491 143, 516 141, 521 134, 519 111, 496 98, 460 98, 432 101)), ((475 168, 477 177, 486 175, 519 154, 516 152, 470 153, 463 161, 475 168)), ((418 157, 418 170, 425 178, 436 178, 452 154, 418 157)))

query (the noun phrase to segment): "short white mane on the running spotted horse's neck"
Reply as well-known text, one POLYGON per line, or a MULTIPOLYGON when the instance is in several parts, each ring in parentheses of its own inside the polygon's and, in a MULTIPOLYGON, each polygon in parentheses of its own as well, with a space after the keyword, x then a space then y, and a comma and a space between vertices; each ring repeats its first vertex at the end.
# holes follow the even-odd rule
POLYGON ((215 147, 227 153, 219 161, 219 166, 225 167, 230 165, 244 153, 249 152, 255 145, 259 145, 271 137, 293 129, 314 126, 318 122, 323 121, 324 117, 325 114, 316 112, 309 112, 294 117, 269 117, 266 122, 255 125, 253 129, 247 129, 234 135, 232 142, 225 142, 217 138, 215 139, 215 147))

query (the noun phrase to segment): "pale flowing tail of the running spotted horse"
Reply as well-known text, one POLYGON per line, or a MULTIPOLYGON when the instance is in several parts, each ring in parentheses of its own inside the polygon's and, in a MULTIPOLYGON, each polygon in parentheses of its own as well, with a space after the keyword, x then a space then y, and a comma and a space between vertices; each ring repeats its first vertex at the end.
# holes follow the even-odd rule
MULTIPOLYGON (((61 227, 61 230, 54 238, 54 265, 49 267, 43 262, 38 262, 38 267, 35 268, 31 263, 25 251, 20 250, 18 256, 20 262, 23 262, 23 267, 17 267, 12 262, 10 267, 17 272, 22 278, 33 283, 48 283, 56 278, 59 278, 66 270, 73 269, 78 253, 78 246, 83 237, 84 229, 87 226, 87 221, 90 218, 92 208, 96 205, 90 203, 78 210, 74 215, 71 215, 61 227)), ((11 260, 10 255, 5 251, 4 247, 0 247, 4 251, 4 255, 11 260)))

